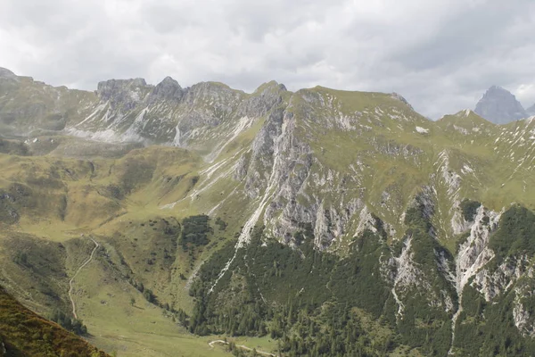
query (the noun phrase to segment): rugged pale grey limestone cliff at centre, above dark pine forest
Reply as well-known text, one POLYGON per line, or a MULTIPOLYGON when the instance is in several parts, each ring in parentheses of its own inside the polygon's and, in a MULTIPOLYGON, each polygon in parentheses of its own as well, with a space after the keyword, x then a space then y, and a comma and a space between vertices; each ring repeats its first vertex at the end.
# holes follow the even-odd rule
MULTIPOLYGON (((292 237, 309 224, 319 249, 333 248, 344 237, 361 233, 368 219, 363 212, 365 187, 355 165, 350 165, 354 172, 348 174, 317 157, 314 129, 358 133, 358 120, 363 119, 360 113, 319 117, 318 112, 340 110, 340 104, 329 98, 315 91, 292 95, 285 108, 270 113, 235 171, 235 179, 244 179, 244 191, 251 199, 269 196, 263 224, 272 237, 293 244, 292 237)), ((401 155, 411 162, 421 154, 410 146, 381 145, 374 137, 369 142, 381 154, 401 155)))

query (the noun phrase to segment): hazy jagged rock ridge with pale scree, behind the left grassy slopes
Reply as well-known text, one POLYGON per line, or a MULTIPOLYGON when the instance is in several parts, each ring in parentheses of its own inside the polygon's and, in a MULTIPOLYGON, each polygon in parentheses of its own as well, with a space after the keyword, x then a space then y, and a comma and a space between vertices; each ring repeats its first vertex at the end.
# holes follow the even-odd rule
POLYGON ((218 82, 181 87, 170 77, 156 86, 140 78, 110 79, 83 91, 2 69, 0 124, 6 134, 22 137, 54 130, 109 143, 188 146, 210 155, 280 104, 284 92, 275 81, 247 94, 218 82))

